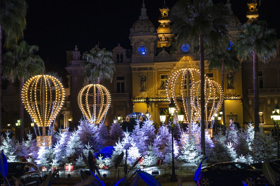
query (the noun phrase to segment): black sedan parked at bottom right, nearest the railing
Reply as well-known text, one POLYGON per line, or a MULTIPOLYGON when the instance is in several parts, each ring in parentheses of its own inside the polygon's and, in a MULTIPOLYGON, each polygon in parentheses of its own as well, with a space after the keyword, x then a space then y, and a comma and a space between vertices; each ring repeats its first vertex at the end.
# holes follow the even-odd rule
MULTIPOLYGON (((248 186, 268 183, 261 169, 240 162, 216 163, 201 169, 201 173, 201 186, 242 185, 242 181, 248 186)), ((275 174, 277 173, 275 172, 275 174)))

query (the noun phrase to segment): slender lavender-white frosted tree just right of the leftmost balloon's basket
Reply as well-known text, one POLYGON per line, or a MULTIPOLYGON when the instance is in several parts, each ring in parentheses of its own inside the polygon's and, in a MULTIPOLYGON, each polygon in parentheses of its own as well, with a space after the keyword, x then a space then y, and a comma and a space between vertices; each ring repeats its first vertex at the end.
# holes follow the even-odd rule
POLYGON ((60 140, 57 141, 57 143, 55 144, 54 153, 55 153, 55 157, 58 161, 60 161, 63 156, 66 156, 66 148, 67 148, 67 144, 70 139, 70 136, 71 136, 71 132, 69 131, 69 128, 65 128, 65 131, 63 131, 60 134, 60 140))

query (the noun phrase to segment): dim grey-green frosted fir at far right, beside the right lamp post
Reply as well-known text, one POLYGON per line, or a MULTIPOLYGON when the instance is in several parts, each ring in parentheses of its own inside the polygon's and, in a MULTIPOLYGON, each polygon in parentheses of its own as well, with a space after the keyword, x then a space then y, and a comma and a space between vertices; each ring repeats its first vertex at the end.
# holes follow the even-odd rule
POLYGON ((276 154, 270 136, 263 131, 262 127, 260 128, 260 131, 255 134, 253 147, 252 157, 255 161, 263 161, 276 154))

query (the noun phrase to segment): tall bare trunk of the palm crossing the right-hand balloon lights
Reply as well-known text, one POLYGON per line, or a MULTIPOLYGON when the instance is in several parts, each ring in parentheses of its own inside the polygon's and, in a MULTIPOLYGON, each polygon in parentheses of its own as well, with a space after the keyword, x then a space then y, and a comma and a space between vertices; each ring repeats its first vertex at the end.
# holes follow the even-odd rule
POLYGON ((203 36, 199 35, 200 53, 200 110, 201 110, 201 154, 205 155, 205 94, 204 94, 204 47, 203 36))

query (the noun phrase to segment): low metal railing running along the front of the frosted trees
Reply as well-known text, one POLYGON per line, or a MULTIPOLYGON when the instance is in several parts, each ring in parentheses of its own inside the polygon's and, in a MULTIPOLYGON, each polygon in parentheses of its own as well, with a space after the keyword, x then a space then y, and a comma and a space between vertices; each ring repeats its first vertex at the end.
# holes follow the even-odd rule
MULTIPOLYGON (((202 167, 204 168, 204 167, 202 167)), ((73 169, 73 171, 68 171, 68 169, 59 169, 58 175, 55 179, 81 179, 80 171, 83 170, 88 177, 92 177, 91 172, 88 169, 73 169)), ((130 170, 128 168, 128 170, 130 170)), ((134 168, 131 170, 127 179, 134 177, 133 173, 137 170, 145 171, 151 174, 155 178, 165 177, 171 175, 171 167, 165 168, 134 168)), ((193 177, 197 167, 175 167, 175 173, 177 176, 182 177, 193 177)), ((46 177, 49 171, 42 171, 42 177, 46 177)), ((121 179, 125 176, 123 168, 110 168, 110 169, 100 169, 99 173, 104 179, 121 179)), ((97 175, 97 173, 95 173, 97 175)))

